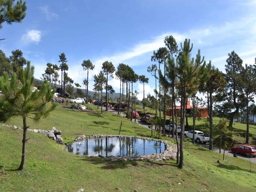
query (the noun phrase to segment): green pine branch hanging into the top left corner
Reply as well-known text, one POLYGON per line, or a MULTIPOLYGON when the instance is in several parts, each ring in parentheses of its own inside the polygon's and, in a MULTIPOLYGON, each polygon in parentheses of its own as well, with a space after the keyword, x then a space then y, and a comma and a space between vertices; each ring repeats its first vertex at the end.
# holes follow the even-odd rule
POLYGON ((12 24, 13 22, 22 22, 26 16, 26 2, 22 3, 22 0, 17 1, 16 5, 13 5, 15 0, 0 0, 0 28, 2 28, 3 22, 12 24))

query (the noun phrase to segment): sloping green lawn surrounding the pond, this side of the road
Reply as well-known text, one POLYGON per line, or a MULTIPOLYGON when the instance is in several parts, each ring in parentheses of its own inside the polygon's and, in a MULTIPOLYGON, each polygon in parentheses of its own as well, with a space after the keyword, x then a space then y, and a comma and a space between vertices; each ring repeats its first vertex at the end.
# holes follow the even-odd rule
MULTIPOLYGON (((62 130, 64 142, 79 134, 118 134, 121 121, 121 134, 150 137, 150 130, 117 114, 77 112, 64 106, 58 105, 38 124, 28 120, 28 125, 45 130, 55 126, 62 130)), ((20 118, 13 118, 6 124, 21 123, 20 118)), ((192 144, 189 152, 185 147, 184 169, 180 170, 172 160, 106 162, 74 155, 48 137, 29 132, 25 168, 16 171, 21 160, 22 131, 0 126, 0 133, 0 191, 256 191, 256 172, 249 172, 248 161, 233 157, 222 161, 220 154, 192 144), (218 159, 220 163, 216 163, 218 159)), ((256 170, 256 164, 252 164, 252 170, 256 170)))

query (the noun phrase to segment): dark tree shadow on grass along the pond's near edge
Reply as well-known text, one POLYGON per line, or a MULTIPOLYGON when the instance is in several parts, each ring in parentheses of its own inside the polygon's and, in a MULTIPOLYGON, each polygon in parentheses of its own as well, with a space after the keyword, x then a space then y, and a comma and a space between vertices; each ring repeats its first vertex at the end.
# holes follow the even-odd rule
POLYGON ((102 165, 99 169, 114 170, 114 169, 127 169, 130 166, 135 167, 161 167, 161 166, 176 166, 176 161, 164 161, 164 162, 153 162, 153 161, 106 161, 105 159, 98 157, 78 157, 78 161, 86 161, 93 165, 102 165))

